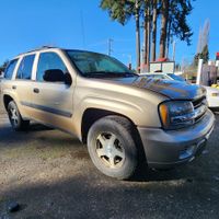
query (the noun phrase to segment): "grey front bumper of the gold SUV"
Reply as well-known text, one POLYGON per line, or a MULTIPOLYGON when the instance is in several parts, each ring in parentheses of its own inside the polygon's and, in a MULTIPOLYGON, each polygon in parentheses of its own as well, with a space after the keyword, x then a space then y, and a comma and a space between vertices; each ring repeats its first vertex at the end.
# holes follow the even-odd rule
POLYGON ((178 130, 138 127, 148 165, 157 169, 174 168, 188 162, 205 149, 215 124, 208 110, 194 126, 178 130))

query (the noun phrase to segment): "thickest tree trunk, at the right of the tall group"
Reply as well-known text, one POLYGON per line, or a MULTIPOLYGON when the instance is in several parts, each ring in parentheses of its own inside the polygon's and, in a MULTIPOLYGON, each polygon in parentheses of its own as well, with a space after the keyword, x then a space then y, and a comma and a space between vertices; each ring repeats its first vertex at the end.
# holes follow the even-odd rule
POLYGON ((166 28, 169 20, 169 0, 162 0, 162 16, 161 16, 161 37, 160 37, 160 58, 165 57, 166 28))

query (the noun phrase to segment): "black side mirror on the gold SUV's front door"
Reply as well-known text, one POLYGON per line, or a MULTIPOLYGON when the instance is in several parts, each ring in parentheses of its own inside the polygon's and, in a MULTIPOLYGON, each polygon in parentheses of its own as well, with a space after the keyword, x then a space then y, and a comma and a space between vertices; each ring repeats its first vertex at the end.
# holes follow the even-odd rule
POLYGON ((65 82, 65 73, 60 69, 49 69, 44 73, 44 81, 65 82))

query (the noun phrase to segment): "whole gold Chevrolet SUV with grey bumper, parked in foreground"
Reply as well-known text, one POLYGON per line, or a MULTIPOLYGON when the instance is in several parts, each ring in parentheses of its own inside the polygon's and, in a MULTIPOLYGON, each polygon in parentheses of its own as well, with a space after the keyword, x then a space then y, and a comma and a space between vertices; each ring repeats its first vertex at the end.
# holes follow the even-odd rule
POLYGON ((157 169, 192 161, 214 129, 201 87, 139 77, 97 53, 46 47, 19 55, 2 92, 13 129, 33 119, 74 135, 116 178, 130 177, 142 160, 157 169))

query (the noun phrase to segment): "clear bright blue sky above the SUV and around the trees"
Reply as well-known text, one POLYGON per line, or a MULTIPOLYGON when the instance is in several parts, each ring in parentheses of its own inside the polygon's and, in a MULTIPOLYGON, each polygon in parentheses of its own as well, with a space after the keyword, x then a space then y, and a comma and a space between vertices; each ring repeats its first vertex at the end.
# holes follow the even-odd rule
MULTIPOLYGON (((107 53, 112 38, 113 56, 135 64, 135 22, 122 26, 112 22, 99 8, 100 0, 0 0, 0 64, 5 59, 42 45, 107 53)), ((192 60, 198 32, 210 20, 210 58, 219 51, 219 1, 196 0, 188 23, 194 35, 192 46, 176 39, 176 61, 192 60)), ((172 50, 170 50, 170 55, 172 50)))

